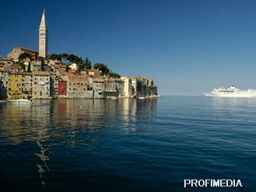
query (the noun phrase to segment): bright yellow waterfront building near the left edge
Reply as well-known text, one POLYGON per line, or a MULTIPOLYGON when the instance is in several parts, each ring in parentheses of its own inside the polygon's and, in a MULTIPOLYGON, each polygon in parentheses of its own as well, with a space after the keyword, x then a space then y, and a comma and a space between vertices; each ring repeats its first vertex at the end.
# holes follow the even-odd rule
POLYGON ((22 75, 20 73, 9 73, 9 98, 22 97, 22 75))

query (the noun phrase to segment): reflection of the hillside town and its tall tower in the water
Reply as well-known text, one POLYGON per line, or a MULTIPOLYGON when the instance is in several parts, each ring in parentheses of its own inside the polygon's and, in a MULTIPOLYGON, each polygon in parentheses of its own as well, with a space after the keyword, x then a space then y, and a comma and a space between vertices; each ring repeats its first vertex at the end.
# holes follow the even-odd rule
POLYGON ((38 100, 33 105, 1 103, 0 146, 30 144, 32 147, 26 153, 34 155, 38 177, 46 187, 49 162, 52 155, 58 153, 56 148, 104 143, 104 135, 115 131, 140 134, 147 130, 156 108, 157 99, 38 100))

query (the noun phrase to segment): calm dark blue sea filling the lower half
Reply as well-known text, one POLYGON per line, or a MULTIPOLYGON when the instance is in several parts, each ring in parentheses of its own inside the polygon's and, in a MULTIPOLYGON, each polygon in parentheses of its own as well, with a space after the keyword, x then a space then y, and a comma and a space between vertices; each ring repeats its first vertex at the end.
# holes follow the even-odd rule
POLYGON ((44 100, 0 114, 0 191, 256 191, 256 99, 44 100))

